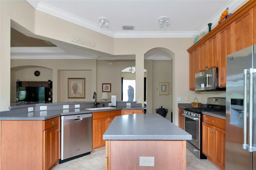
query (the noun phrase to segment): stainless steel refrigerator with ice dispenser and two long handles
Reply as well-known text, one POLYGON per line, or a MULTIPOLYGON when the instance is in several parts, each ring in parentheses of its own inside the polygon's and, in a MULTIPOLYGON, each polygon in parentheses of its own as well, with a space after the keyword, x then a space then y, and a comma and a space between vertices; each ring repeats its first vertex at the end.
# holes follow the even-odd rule
POLYGON ((255 51, 256 45, 227 56, 226 170, 256 170, 255 51))

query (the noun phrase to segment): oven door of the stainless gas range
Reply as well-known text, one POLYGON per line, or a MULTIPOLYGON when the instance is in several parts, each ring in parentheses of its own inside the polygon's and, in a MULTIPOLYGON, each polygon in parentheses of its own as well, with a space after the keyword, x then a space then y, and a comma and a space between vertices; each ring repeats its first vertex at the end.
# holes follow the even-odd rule
POLYGON ((192 135, 188 141, 200 150, 200 118, 184 115, 184 130, 192 135))

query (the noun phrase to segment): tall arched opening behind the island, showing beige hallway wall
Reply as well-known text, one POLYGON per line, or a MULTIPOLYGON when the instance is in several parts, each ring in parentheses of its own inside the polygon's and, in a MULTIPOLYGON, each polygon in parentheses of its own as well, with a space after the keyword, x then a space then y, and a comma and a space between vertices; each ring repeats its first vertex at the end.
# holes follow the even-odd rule
POLYGON ((150 49, 144 54, 144 67, 147 69, 147 113, 155 113, 161 106, 168 109, 166 119, 172 112, 172 59, 174 53, 163 47, 150 49), (161 92, 161 84, 168 85, 168 93, 161 92))

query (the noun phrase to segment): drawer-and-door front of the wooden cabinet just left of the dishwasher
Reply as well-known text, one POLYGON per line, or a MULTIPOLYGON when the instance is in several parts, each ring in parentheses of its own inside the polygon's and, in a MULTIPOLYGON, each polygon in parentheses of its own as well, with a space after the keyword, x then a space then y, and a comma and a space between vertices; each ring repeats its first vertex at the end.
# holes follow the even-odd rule
POLYGON ((43 169, 52 168, 59 160, 59 118, 52 118, 44 121, 43 132, 43 169))

